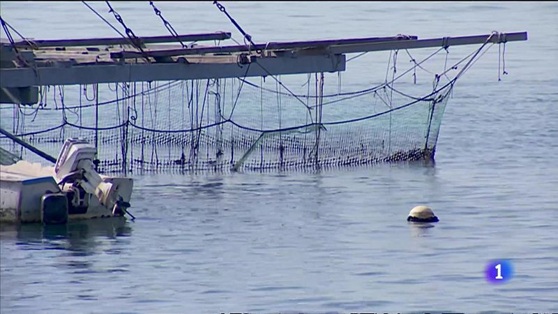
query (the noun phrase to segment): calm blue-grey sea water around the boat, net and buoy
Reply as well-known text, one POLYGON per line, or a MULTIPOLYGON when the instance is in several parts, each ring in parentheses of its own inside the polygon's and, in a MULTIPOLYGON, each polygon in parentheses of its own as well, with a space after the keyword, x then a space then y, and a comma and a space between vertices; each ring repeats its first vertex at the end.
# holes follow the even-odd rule
MULTIPOLYGON (((223 4, 259 42, 529 40, 506 47, 502 82, 497 49, 458 82, 435 165, 136 176, 135 222, 2 226, 2 313, 558 311, 557 3, 223 4), (416 204, 441 221, 407 223, 416 204), (515 269, 502 285, 484 278, 497 259, 515 269)), ((240 38, 211 2, 156 5, 179 33, 240 38)), ((113 6, 135 33, 165 33, 146 1, 113 6)), ((1 15, 33 38, 114 36, 79 2, 1 15)))

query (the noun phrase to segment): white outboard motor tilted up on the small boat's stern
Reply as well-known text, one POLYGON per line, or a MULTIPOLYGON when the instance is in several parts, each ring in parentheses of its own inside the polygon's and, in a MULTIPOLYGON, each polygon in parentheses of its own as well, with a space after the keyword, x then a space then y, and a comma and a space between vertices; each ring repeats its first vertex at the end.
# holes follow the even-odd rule
POLYGON ((54 178, 62 190, 68 191, 70 214, 84 214, 94 195, 114 216, 123 216, 130 203, 124 202, 111 182, 104 181, 94 169, 96 149, 86 140, 70 138, 64 142, 54 178))

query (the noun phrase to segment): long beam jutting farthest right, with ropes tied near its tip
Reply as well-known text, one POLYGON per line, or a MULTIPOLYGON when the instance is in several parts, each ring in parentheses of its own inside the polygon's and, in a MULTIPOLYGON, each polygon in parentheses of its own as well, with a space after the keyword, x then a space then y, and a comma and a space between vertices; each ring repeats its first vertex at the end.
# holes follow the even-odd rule
MULTIPOLYGON (((353 52, 372 52, 382 50, 414 49, 427 47, 449 47, 457 45, 475 45, 485 43, 491 34, 462 37, 444 37, 420 40, 399 40, 389 43, 365 43, 355 45, 335 45, 329 51, 333 54, 348 54, 353 52)), ((527 32, 498 33, 490 38, 490 43, 506 43, 508 41, 527 40, 527 32)))

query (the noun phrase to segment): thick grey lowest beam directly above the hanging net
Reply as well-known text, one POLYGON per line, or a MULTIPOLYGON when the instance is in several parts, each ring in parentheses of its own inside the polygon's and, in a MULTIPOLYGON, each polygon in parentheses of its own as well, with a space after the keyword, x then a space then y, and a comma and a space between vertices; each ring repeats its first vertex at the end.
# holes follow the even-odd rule
POLYGON ((194 80, 253 77, 278 74, 335 72, 345 70, 345 55, 256 57, 250 68, 237 63, 128 63, 70 67, 0 69, 0 87, 73 85, 109 82, 194 80), (257 63, 257 64, 255 64, 257 63), (246 70, 248 69, 248 72, 246 70), (265 69, 265 70, 264 70, 265 69))

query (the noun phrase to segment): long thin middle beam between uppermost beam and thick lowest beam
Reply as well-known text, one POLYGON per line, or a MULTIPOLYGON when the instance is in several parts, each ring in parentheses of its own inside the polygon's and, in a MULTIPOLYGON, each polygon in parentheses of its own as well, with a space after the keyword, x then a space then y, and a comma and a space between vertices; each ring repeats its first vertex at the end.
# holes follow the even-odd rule
MULTIPOLYGON (((191 49, 172 49, 172 50, 156 50, 146 51, 149 57, 172 57, 188 54, 210 54, 210 53, 230 53, 230 52, 247 52, 254 50, 285 50, 297 48, 324 48, 330 45, 353 45, 362 43, 377 43, 377 42, 391 42, 398 40, 416 39, 416 36, 393 36, 393 37, 368 37, 368 38, 348 38, 348 39, 333 39, 333 40, 310 40, 310 41, 292 41, 281 43, 265 43, 252 45, 231 45, 223 47, 201 47, 191 49)), ((123 51, 112 52, 110 57, 113 59, 119 58, 141 58, 141 52, 123 51)))

